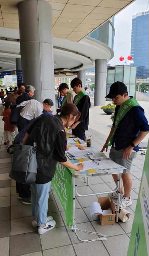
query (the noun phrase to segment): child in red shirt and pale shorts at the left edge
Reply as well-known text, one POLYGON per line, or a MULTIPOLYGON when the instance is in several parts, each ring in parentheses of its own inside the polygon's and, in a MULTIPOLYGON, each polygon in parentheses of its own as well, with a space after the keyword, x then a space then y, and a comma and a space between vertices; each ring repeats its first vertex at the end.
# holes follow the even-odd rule
POLYGON ((10 146, 10 141, 12 141, 12 144, 14 143, 14 139, 16 137, 15 134, 15 125, 10 124, 10 113, 11 113, 11 108, 10 108, 11 103, 9 101, 5 102, 5 108, 6 110, 4 111, 4 137, 7 141, 6 149, 10 146))

